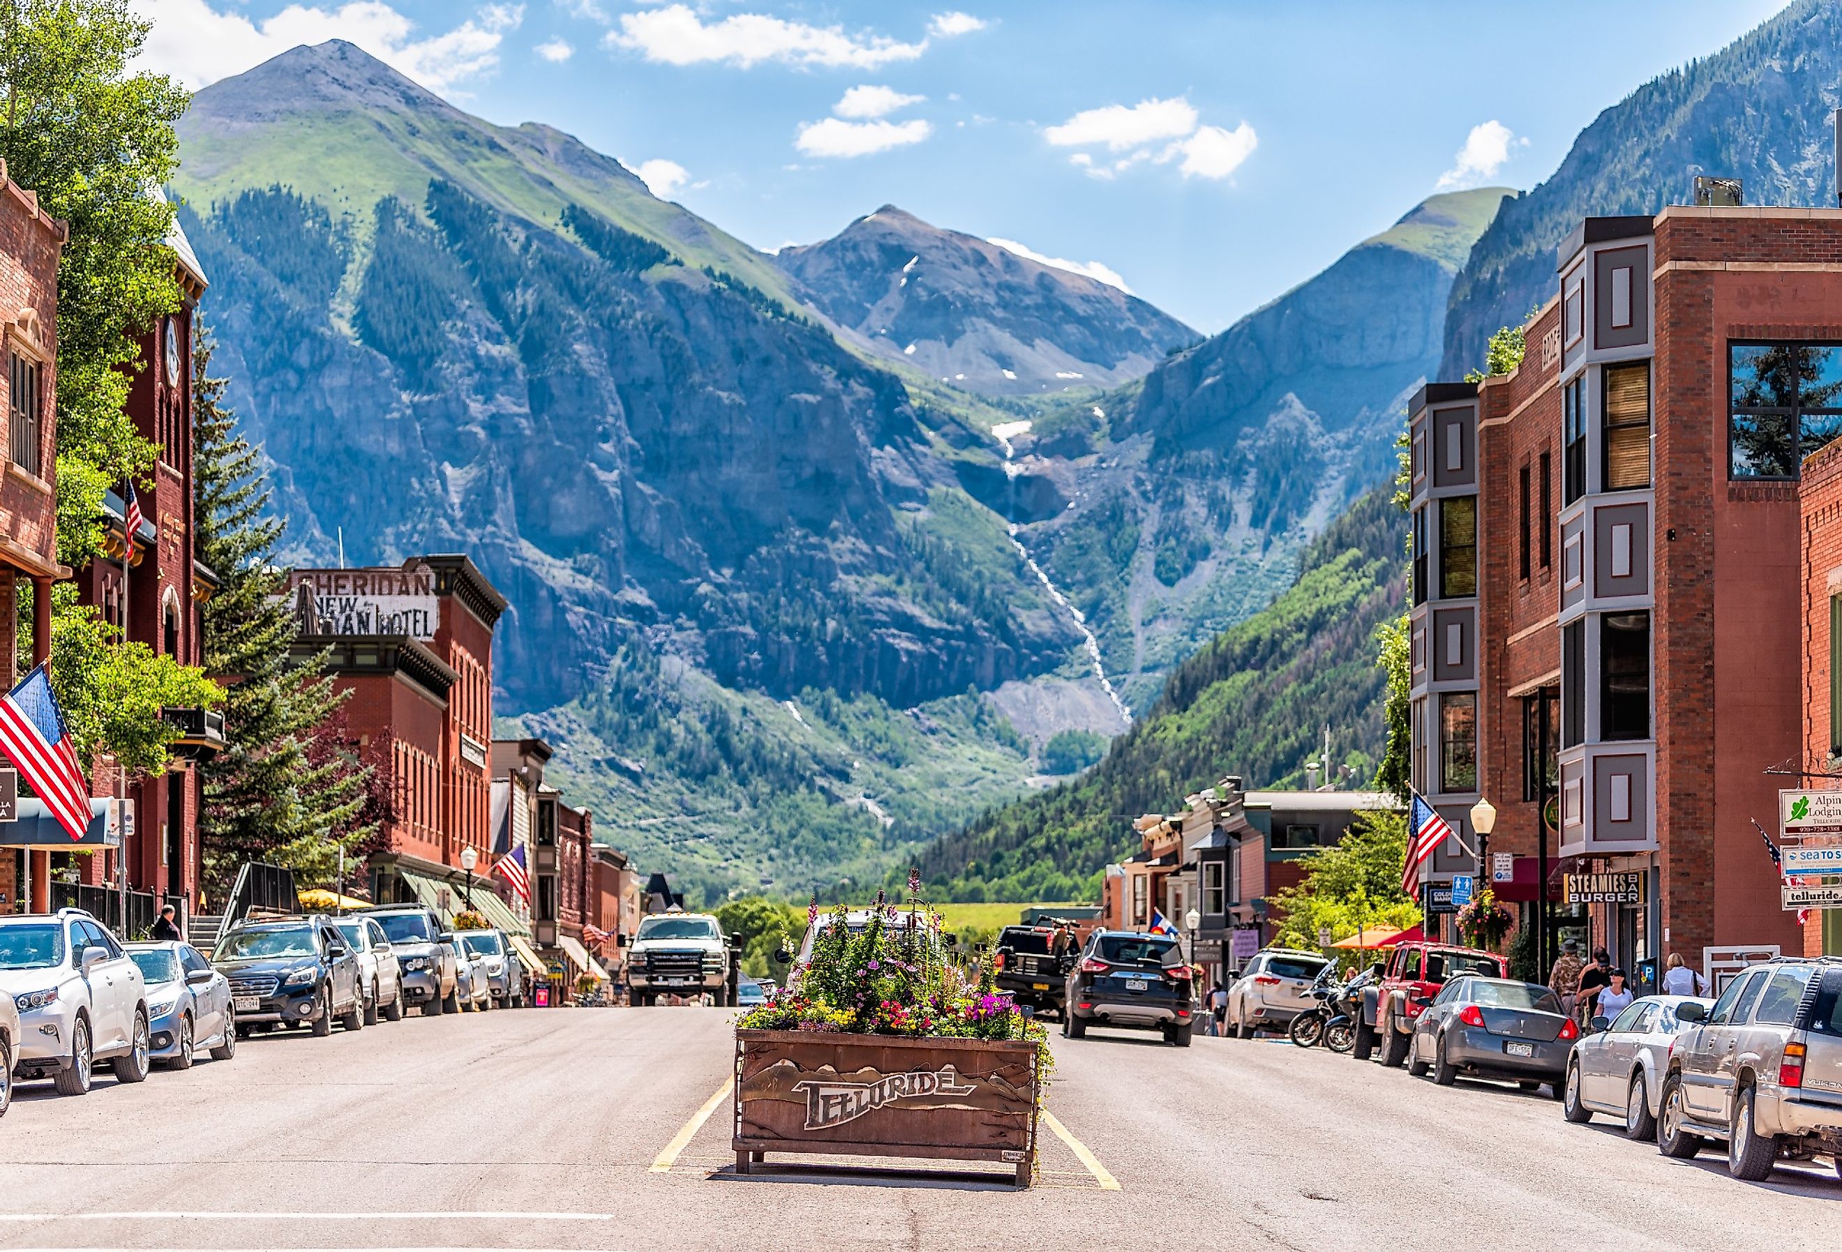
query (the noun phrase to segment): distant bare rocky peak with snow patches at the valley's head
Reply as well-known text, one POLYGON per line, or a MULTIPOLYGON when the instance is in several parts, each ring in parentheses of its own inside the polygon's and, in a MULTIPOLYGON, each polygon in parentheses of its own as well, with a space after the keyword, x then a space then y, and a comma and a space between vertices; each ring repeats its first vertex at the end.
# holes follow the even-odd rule
POLYGON ((1118 287, 893 204, 774 261, 849 342, 989 396, 1113 387, 1199 339, 1118 287))

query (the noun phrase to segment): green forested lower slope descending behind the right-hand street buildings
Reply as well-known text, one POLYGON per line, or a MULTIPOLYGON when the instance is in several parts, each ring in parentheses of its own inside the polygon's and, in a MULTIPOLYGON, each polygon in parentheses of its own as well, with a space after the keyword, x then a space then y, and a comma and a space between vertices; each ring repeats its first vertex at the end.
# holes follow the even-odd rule
POLYGON ((1326 724, 1334 755, 1369 779, 1387 740, 1374 632, 1405 589, 1391 495, 1363 495, 1312 541, 1289 589, 1173 668, 1098 766, 936 840, 921 873, 952 898, 1090 898, 1098 871, 1133 851, 1133 817, 1223 773, 1297 784, 1326 724))

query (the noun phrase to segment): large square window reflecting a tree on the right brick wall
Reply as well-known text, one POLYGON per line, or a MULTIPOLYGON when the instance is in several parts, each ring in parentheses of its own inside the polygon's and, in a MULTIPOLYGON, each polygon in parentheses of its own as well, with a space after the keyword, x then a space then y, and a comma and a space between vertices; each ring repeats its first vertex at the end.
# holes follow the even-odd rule
POLYGON ((1842 435, 1842 348, 1730 344, 1728 451, 1733 479, 1796 479, 1842 435))

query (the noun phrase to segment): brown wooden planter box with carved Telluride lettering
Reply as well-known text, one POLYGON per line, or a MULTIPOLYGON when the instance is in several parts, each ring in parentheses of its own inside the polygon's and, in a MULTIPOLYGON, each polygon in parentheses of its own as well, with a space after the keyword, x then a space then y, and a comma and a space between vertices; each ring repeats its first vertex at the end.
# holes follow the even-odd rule
POLYGON ((1000 1160, 1030 1186, 1035 1044, 735 1033, 735 1171, 766 1153, 1000 1160))

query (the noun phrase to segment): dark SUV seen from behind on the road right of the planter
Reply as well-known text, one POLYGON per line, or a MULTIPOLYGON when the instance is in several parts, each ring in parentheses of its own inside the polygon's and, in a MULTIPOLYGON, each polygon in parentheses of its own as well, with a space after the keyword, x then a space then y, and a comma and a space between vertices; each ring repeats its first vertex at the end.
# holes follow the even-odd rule
POLYGON ((1166 1044, 1190 1046, 1195 980, 1170 935, 1096 930, 1068 974, 1061 1033, 1087 1035, 1089 1024, 1162 1031, 1166 1044))

